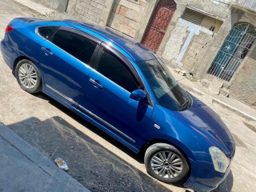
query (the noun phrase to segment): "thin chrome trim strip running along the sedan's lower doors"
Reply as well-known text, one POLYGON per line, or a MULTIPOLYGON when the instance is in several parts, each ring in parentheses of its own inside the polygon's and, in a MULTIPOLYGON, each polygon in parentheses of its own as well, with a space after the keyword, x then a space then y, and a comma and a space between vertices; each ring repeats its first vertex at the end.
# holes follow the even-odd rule
POLYGON ((62 98, 65 98, 66 100, 68 100, 69 102, 73 103, 76 106, 79 106, 82 110, 84 110, 87 114, 90 114, 91 116, 93 116, 94 118, 97 118, 99 121, 103 122, 106 126, 110 127, 112 130, 115 130, 116 132, 118 132, 118 134, 122 134, 122 136, 124 136, 125 138, 128 138, 131 142, 135 142, 134 139, 130 138, 128 135, 122 133, 122 131, 118 130, 117 128, 115 128, 114 126, 111 126, 110 123, 104 121, 102 118, 99 118, 96 114, 90 112, 90 110, 86 110, 86 108, 84 108, 83 106, 78 105, 77 102, 74 102, 73 99, 66 97, 66 95, 60 93, 58 90, 55 90, 53 87, 46 85, 50 90, 53 90, 56 94, 62 96, 62 98))

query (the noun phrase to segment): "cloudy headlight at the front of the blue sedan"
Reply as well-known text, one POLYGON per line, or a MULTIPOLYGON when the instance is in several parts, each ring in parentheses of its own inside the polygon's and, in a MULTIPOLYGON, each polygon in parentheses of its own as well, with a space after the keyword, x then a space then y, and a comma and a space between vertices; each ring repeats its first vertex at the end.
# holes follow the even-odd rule
POLYGON ((227 167, 230 165, 230 158, 219 150, 216 146, 211 146, 209 148, 211 159, 214 162, 214 169, 220 173, 225 173, 227 167))

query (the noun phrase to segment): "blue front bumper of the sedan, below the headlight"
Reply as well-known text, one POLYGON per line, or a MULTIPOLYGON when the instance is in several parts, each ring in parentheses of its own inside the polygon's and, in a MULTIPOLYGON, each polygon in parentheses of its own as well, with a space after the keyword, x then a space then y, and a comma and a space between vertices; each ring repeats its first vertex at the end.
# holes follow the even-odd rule
POLYGON ((191 159, 190 164, 192 168, 190 178, 188 178, 184 186, 197 192, 209 192, 216 189, 230 173, 230 166, 226 173, 222 174, 216 170, 210 170, 191 159))

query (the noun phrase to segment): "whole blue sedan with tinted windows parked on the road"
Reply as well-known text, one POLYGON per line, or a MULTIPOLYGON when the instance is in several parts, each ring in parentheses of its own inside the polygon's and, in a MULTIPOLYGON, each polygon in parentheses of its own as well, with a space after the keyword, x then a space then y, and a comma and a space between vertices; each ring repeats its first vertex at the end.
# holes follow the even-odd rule
POLYGON ((229 173, 230 131, 140 43, 82 22, 15 18, 1 51, 23 90, 42 91, 145 153, 152 177, 210 191, 229 173))

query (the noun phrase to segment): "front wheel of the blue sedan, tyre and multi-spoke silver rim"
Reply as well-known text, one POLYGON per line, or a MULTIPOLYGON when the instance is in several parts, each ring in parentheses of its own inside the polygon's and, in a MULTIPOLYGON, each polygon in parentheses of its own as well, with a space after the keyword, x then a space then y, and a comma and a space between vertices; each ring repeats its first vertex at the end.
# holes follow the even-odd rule
POLYGON ((174 146, 156 143, 145 153, 144 163, 148 174, 161 182, 183 182, 190 167, 186 158, 174 146))

